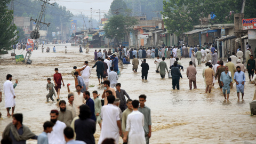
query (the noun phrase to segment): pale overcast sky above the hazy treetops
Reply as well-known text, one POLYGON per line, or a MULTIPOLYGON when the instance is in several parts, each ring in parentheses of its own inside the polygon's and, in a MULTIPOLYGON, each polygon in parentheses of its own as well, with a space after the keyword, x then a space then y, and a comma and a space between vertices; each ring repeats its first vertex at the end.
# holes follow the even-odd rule
POLYGON ((62 6, 66 6, 67 10, 72 12, 74 15, 78 13, 81 14, 82 12, 87 17, 91 17, 92 8, 92 17, 93 19, 98 20, 99 10, 101 11, 101 18, 103 18, 102 12, 108 12, 113 0, 51 0, 50 3, 52 2, 57 2, 62 6))

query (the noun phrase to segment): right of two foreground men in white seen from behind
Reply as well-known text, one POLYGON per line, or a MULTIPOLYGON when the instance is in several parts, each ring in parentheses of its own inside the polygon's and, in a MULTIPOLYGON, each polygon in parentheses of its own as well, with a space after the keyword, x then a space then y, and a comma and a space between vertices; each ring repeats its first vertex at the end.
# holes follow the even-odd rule
POLYGON ((126 132, 124 134, 124 142, 127 141, 127 134, 129 133, 128 144, 146 144, 144 126, 144 115, 138 110, 139 101, 132 101, 132 113, 127 116, 126 132))

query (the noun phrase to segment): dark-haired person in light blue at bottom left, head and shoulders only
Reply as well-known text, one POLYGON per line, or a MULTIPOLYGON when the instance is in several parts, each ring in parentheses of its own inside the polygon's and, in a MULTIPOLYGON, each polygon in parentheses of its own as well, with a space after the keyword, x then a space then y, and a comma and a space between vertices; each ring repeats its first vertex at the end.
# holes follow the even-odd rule
POLYGON ((38 135, 37 144, 48 144, 47 133, 52 132, 52 127, 52 122, 47 121, 44 123, 44 131, 40 135, 38 135))

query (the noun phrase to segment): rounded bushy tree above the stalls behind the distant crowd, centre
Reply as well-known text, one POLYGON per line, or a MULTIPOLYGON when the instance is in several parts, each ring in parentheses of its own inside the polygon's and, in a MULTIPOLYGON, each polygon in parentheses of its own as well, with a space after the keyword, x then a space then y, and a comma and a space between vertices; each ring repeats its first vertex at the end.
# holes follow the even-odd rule
POLYGON ((133 17, 129 17, 129 16, 124 17, 122 14, 115 15, 114 17, 111 17, 109 19, 109 22, 104 27, 106 37, 107 38, 116 37, 117 41, 120 42, 121 37, 123 37, 124 34, 126 34, 130 42, 130 36, 129 36, 130 31, 133 30, 133 26, 136 25, 137 23, 138 23, 138 20, 133 17))

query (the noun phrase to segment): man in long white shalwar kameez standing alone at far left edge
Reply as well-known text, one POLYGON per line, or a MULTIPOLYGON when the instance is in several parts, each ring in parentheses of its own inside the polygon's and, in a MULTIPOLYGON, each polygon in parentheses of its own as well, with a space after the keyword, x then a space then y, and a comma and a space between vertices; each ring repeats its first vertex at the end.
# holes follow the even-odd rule
POLYGON ((5 108, 7 110, 7 116, 10 115, 10 108, 12 108, 12 115, 15 109, 15 93, 12 84, 12 75, 6 76, 6 82, 4 82, 4 95, 5 95, 5 108))

